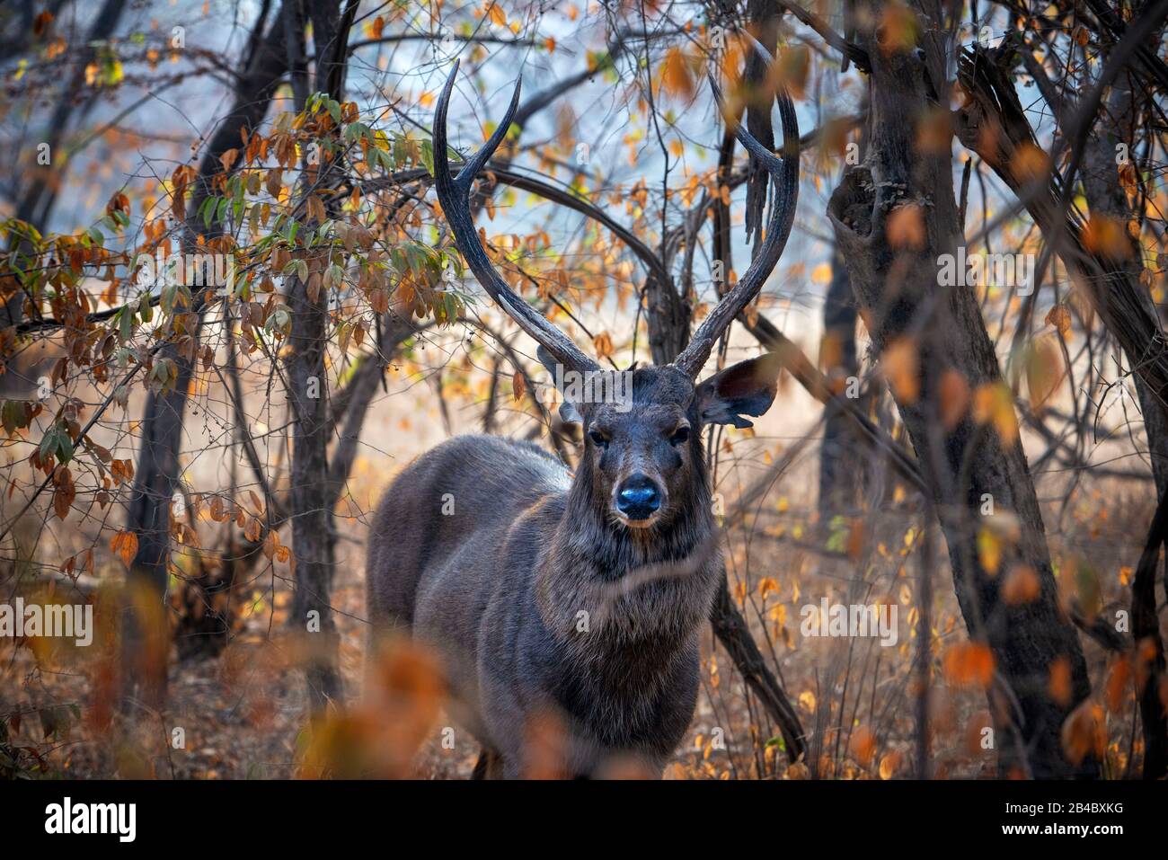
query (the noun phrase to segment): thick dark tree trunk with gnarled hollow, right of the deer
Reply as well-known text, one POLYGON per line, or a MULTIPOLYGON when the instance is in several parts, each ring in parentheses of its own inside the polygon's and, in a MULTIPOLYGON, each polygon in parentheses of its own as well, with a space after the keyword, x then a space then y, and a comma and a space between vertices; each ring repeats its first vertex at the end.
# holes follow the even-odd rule
POLYGON ((1011 438, 1008 429, 975 423, 968 409, 941 423, 943 380, 952 387, 960 377, 976 390, 1000 384, 1000 372, 973 290, 939 286, 938 257, 955 257, 962 230, 950 148, 918 151, 917 130, 938 110, 937 96, 926 93, 945 92, 945 46, 931 36, 924 51, 878 44, 874 22, 881 6, 857 32, 872 65, 868 155, 844 173, 828 215, 874 351, 881 354, 901 341, 913 358, 903 358, 905 349, 898 347, 898 365, 916 363, 908 370, 912 381, 894 386, 894 395, 939 513, 971 639, 986 643, 994 657, 999 770, 1036 778, 1092 775, 1096 763, 1068 761, 1059 741, 1064 720, 1089 695, 1090 682, 1075 629, 1058 609, 1021 443, 1016 432, 1011 438), (1003 547, 997 570, 986 569, 978 552, 978 533, 988 525, 980 522, 987 499, 995 509, 1013 512, 1018 523, 1017 540, 1003 547), (1018 566, 1038 582, 1035 599, 1021 604, 1000 592, 1004 574, 1018 566), (1061 660, 1071 670, 1066 705, 1048 692, 1051 667, 1061 660))

